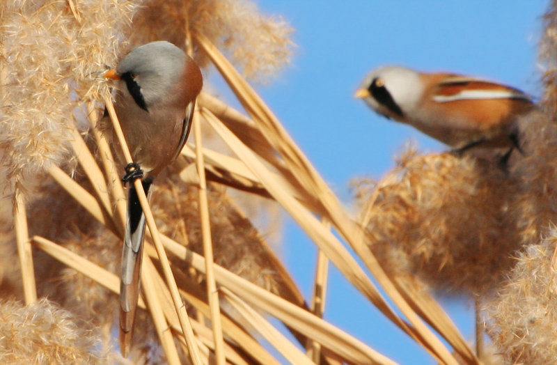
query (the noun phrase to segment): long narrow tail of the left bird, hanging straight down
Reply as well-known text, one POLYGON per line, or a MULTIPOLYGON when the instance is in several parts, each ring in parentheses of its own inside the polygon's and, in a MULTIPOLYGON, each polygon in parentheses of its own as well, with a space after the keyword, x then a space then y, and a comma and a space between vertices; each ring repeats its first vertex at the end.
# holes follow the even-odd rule
MULTIPOLYGON (((152 180, 143 180, 141 184, 146 194, 148 194, 152 180)), ((123 357, 129 355, 132 345, 132 329, 139 298, 144 238, 145 215, 143 215, 136 189, 133 184, 130 184, 127 196, 127 222, 120 276, 120 351, 123 357)))

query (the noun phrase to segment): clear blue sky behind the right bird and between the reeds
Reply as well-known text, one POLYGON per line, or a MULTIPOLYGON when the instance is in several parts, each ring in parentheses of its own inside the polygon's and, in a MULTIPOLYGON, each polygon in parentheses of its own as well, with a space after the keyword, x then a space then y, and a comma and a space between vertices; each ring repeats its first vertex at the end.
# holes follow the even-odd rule
MULTIPOLYGON (((258 6, 290 22, 297 44, 292 65, 258 91, 348 207, 349 180, 380 178, 408 141, 425 151, 444 149, 353 98, 372 68, 398 64, 460 72, 501 81, 535 97, 541 93, 537 52, 547 0, 259 0, 258 6)), ((310 297, 315 246, 292 222, 286 223, 280 255, 310 297)), ((330 275, 327 320, 400 364, 434 364, 338 271, 330 275)), ((466 339, 472 339, 471 303, 442 303, 466 339)))

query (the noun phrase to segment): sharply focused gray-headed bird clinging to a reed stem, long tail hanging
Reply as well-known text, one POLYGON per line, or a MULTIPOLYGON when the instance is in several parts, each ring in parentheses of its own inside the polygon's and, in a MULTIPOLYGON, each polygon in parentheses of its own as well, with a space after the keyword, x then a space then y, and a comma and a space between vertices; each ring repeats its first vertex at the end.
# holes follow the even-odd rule
MULTIPOLYGON (((134 163, 126 166, 130 182, 120 281, 120 348, 127 357, 139 297, 139 278, 145 236, 145 215, 133 180, 150 185, 184 146, 191 127, 196 97, 203 87, 201 70, 182 49, 169 42, 150 42, 133 49, 104 77, 116 80, 114 108, 134 163)), ((102 129, 118 143, 111 123, 102 129)), ((116 148, 120 151, 121 148, 116 148)), ((124 161, 123 158, 118 160, 124 161)))

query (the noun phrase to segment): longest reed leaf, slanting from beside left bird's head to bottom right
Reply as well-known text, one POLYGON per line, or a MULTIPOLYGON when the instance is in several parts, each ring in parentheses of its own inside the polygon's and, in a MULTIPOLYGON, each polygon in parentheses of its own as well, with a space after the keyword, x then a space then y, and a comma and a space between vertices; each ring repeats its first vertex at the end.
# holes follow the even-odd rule
MULTIPOLYGON (((311 166, 311 163, 308 162, 290 136, 288 136, 288 133, 284 130, 280 123, 278 123, 278 120, 276 120, 272 111, 268 109, 255 91, 253 91, 249 84, 247 84, 247 82, 239 75, 235 68, 230 65, 228 60, 226 60, 226 58, 219 52, 219 49, 212 45, 210 40, 200 34, 196 34, 196 39, 203 47, 203 50, 210 56, 214 65, 217 66, 223 77, 228 82, 228 85, 233 89, 233 92, 237 95, 237 98, 240 100, 246 111, 248 111, 248 113, 253 117, 254 121, 260 122, 258 123, 258 127, 261 128, 261 131, 267 140, 272 143, 274 148, 276 148, 278 153, 284 158, 285 163, 290 166, 293 171, 295 171, 294 175, 299 179, 299 183, 306 188, 307 192, 320 197, 320 201, 323 203, 324 208, 326 208, 327 215, 329 219, 331 219, 331 222, 333 222, 334 226, 336 226, 340 234, 343 235, 354 251, 359 254, 362 261, 366 263, 370 272, 374 274, 375 279, 377 279, 377 281, 379 281, 379 283, 383 286, 386 293, 388 293, 389 297, 391 297, 393 302, 395 302, 400 311, 404 313, 414 328, 412 329, 410 327, 407 329, 405 324, 396 320, 398 316, 393 316, 393 318, 395 318, 393 322, 397 324, 400 323, 400 325, 402 325, 401 328, 405 329, 405 332, 409 333, 410 336, 418 341, 418 343, 424 345, 426 349, 431 350, 435 357, 441 357, 444 359, 444 362, 447 362, 448 364, 455 364, 453 355, 451 355, 441 341, 439 341, 439 339, 432 334, 430 329, 423 324, 420 318, 418 318, 416 313, 411 309, 411 305, 405 301, 405 297, 409 296, 402 295, 398 292, 390 277, 379 265, 377 258, 375 258, 375 256, 371 253, 366 242, 361 240, 363 237, 361 232, 359 232, 361 231, 361 227, 354 224, 354 222, 347 217, 345 210, 336 199, 336 196, 332 194, 330 189, 320 178, 319 174, 315 171, 313 166, 311 166)), ((225 139, 225 141, 228 140, 225 139)), ((298 220, 298 222, 299 224, 304 224, 304 222, 300 220, 298 220)), ((318 241, 319 240, 315 240, 315 242, 318 241)), ((333 259, 330 255, 328 256, 331 260, 333 259)), ((411 297, 409 298, 411 299, 411 297)), ((381 302, 383 301, 381 300, 381 302)), ((379 309, 381 309, 381 307, 384 308, 384 305, 375 305, 379 309)), ((427 310, 430 311, 434 309, 427 308, 427 310)), ((471 352, 466 341, 462 339, 462 336, 460 336, 459 333, 441 333, 441 336, 444 336, 448 339, 448 341, 455 336, 460 337, 459 341, 455 343, 451 342, 450 344, 453 345, 462 357, 469 359, 471 362, 476 361, 473 356, 473 352, 471 352)))

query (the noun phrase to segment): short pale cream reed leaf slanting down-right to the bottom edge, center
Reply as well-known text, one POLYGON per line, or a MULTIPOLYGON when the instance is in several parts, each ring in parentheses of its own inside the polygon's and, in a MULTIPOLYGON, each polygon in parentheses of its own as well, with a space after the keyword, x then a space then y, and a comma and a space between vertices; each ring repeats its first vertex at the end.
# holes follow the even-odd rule
POLYGON ((251 327, 263 336, 278 352, 285 357, 291 364, 312 365, 311 359, 301 352, 294 344, 278 332, 263 316, 253 310, 243 300, 234 295, 227 288, 222 288, 222 293, 229 304, 237 311, 237 313, 246 320, 251 327))

